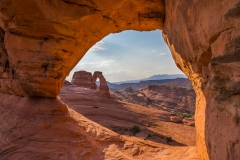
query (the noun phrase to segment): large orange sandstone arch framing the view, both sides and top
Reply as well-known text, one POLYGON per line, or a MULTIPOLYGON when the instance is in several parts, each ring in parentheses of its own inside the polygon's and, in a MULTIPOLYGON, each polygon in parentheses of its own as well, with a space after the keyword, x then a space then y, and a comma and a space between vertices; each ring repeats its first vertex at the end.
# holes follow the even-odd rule
POLYGON ((1 0, 0 6, 2 97, 56 98, 70 70, 104 36, 162 29, 197 94, 200 159, 239 159, 238 0, 1 0))

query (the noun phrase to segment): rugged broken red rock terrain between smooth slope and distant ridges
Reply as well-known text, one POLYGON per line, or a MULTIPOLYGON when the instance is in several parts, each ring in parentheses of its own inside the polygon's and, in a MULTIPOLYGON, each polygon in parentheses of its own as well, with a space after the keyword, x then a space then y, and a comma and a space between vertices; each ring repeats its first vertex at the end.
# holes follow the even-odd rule
POLYGON ((139 90, 128 87, 124 91, 112 93, 118 99, 129 103, 172 113, 195 113, 196 95, 190 88, 151 84, 139 90))

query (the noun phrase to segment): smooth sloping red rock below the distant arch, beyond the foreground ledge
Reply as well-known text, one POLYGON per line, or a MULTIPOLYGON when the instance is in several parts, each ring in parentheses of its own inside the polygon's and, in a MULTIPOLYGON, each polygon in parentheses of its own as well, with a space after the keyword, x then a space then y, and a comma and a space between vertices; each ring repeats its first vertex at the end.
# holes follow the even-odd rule
POLYGON ((170 122, 169 112, 124 103, 99 91, 71 85, 64 86, 59 97, 73 110, 121 135, 133 136, 130 129, 137 125, 141 132, 135 137, 139 139, 171 146, 195 146, 195 128, 170 122))

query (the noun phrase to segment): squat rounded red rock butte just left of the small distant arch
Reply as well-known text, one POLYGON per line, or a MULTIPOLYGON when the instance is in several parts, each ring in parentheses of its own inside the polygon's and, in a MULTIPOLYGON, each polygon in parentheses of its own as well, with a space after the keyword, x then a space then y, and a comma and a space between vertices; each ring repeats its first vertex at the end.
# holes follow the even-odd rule
POLYGON ((86 71, 74 72, 71 83, 79 87, 92 88, 94 86, 92 73, 86 71))

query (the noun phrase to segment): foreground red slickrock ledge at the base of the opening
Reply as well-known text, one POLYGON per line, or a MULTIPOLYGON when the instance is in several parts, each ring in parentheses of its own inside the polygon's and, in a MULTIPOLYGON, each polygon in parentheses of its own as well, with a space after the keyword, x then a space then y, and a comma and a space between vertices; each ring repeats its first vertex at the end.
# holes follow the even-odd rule
POLYGON ((0 93, 0 117, 1 160, 197 159, 195 147, 119 135, 58 99, 0 93))

